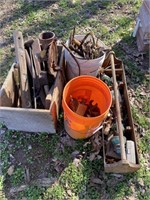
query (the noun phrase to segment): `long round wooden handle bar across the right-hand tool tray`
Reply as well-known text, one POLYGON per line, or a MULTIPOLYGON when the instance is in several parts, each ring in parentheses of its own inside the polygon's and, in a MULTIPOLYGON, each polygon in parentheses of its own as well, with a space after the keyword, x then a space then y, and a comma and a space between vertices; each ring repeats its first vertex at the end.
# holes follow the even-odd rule
POLYGON ((118 123, 118 132, 120 138, 120 148, 121 148, 121 159, 126 160, 125 145, 123 138, 122 122, 121 122, 121 111, 119 106, 119 94, 118 94, 118 85, 116 80, 115 64, 114 64, 114 54, 110 54, 112 76, 113 76, 113 86, 114 86, 114 95, 115 95, 115 105, 116 105, 116 114, 117 114, 117 123, 118 123))

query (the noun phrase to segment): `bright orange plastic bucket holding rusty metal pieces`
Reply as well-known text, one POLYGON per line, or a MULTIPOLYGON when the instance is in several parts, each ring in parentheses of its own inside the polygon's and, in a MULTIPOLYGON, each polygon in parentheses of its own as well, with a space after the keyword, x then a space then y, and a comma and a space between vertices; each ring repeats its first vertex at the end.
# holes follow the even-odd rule
POLYGON ((71 79, 63 90, 62 106, 64 110, 64 127, 74 139, 84 139, 93 135, 108 115, 112 96, 108 86, 93 76, 78 76, 71 79), (84 117, 76 114, 69 108, 70 96, 83 97, 94 100, 98 104, 100 115, 97 117, 84 117))

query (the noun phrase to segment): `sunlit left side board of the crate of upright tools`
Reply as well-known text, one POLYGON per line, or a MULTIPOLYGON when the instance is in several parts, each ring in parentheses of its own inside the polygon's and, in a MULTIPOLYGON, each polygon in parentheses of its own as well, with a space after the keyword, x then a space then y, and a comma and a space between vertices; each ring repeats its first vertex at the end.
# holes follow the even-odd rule
POLYGON ((0 89, 0 106, 11 107, 14 101, 14 83, 13 83, 14 64, 8 72, 8 75, 0 89))

